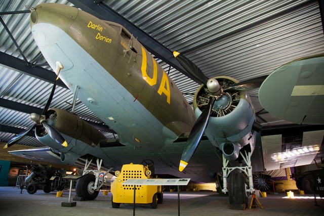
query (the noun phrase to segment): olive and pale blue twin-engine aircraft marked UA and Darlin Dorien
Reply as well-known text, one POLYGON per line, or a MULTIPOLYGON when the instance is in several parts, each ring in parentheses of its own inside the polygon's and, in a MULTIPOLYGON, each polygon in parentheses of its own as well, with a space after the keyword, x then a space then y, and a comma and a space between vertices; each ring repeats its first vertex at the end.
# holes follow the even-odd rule
MULTIPOLYGON (((266 165, 280 168, 283 161, 292 165, 291 157, 294 164, 308 164, 320 148, 323 128, 314 131, 300 126, 316 139, 299 143, 289 156, 281 154, 281 137, 269 133, 261 138, 246 90, 262 84, 261 105, 282 119, 323 124, 323 55, 290 62, 268 77, 238 82, 227 76, 207 78, 189 59, 174 52, 202 83, 192 110, 167 73, 123 26, 60 4, 41 4, 30 10, 31 32, 45 59, 74 97, 113 129, 118 139, 107 140, 74 114, 49 109, 54 84, 43 113, 30 115, 35 124, 7 145, 34 128, 36 138, 50 148, 12 154, 67 164, 79 157, 95 157, 98 170, 102 165, 120 169, 124 163, 148 159, 154 161, 158 174, 196 182, 213 181, 222 172, 222 190, 229 193, 230 203, 247 205, 248 194, 254 191, 252 165, 254 171, 263 171, 266 165), (267 148, 261 149, 261 139, 267 148), (299 159, 293 154, 301 160, 296 162, 299 159), (264 164, 263 156, 276 161, 264 164)), ((100 188, 99 173, 92 171, 95 175, 86 167, 76 188, 77 195, 88 200, 95 199, 100 188)))

